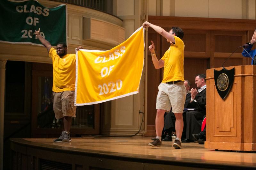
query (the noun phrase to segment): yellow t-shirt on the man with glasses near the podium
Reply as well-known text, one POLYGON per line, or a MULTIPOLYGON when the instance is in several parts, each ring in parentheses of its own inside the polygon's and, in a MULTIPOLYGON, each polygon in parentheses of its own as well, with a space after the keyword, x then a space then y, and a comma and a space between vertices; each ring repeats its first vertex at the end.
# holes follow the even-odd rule
POLYGON ((164 53, 161 60, 164 60, 164 78, 162 83, 168 81, 184 81, 184 42, 174 36, 175 44, 164 53))

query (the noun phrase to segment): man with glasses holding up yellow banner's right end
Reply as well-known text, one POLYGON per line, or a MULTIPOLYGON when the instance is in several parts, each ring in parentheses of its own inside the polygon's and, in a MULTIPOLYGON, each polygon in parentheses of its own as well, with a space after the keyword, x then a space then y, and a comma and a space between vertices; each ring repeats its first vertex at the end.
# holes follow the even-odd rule
POLYGON ((175 115, 176 140, 172 147, 181 148, 181 135, 183 130, 182 113, 186 99, 186 87, 184 85, 184 43, 181 40, 184 32, 179 27, 172 27, 170 32, 165 31, 160 26, 153 25, 148 21, 144 22, 143 27, 151 27, 170 42, 170 48, 164 56, 158 60, 155 53, 154 42, 148 47, 151 52, 152 61, 156 69, 164 67, 164 78, 158 86, 156 98, 156 138, 148 145, 157 147, 162 145, 162 130, 164 128, 164 113, 172 112, 175 115))

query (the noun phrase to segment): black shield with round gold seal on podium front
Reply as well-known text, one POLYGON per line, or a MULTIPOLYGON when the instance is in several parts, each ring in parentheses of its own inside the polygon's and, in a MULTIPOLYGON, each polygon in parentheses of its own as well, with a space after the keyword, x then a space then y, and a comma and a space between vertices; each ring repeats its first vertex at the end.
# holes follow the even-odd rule
POLYGON ((214 69, 214 81, 217 92, 219 93, 220 97, 225 100, 228 96, 230 89, 232 88, 235 76, 235 68, 231 70, 222 68, 222 70, 215 70, 214 69))

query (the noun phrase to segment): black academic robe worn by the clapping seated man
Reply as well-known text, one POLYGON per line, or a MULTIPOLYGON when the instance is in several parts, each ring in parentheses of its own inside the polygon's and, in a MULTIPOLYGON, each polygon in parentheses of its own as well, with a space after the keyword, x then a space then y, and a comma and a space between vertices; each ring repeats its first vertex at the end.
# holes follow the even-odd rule
POLYGON ((196 110, 186 112, 186 138, 190 140, 195 140, 192 136, 194 133, 201 132, 203 117, 206 115, 206 88, 196 94, 195 100, 196 102, 192 101, 188 104, 188 108, 196 108, 196 110))

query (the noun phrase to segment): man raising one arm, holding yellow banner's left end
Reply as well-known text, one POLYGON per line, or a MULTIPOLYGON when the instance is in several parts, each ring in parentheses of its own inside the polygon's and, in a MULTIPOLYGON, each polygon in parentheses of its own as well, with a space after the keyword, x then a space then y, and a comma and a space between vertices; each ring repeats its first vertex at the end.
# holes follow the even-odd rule
MULTIPOLYGON (((53 110, 56 119, 61 119, 62 134, 54 142, 71 142, 70 126, 72 117, 76 117, 75 82, 76 54, 68 54, 67 44, 60 42, 55 50, 49 41, 40 35, 40 29, 35 31, 39 41, 46 47, 53 67, 53 110)), ((79 46, 77 50, 83 48, 79 46)))

